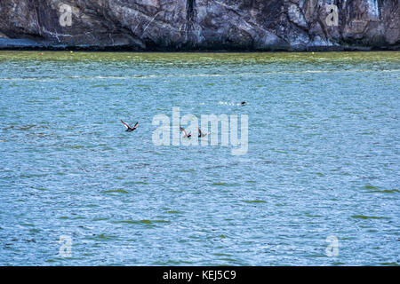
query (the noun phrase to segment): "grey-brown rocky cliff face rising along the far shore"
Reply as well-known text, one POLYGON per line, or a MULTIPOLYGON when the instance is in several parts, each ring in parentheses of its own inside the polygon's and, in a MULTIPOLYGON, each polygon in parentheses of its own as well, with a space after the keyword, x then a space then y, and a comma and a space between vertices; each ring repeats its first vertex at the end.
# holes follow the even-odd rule
POLYGON ((398 50, 399 7, 399 0, 1 0, 0 47, 398 50))

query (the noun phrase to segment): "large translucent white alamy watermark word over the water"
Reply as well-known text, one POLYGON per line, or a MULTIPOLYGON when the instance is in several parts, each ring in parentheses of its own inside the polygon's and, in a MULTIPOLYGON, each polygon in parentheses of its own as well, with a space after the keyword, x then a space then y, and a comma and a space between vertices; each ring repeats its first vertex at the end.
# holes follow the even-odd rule
POLYGON ((172 125, 168 115, 156 114, 152 124, 158 127, 152 134, 153 144, 156 146, 197 146, 199 144, 201 146, 218 146, 220 144, 221 146, 233 146, 231 149, 233 155, 247 153, 249 144, 248 114, 240 115, 240 138, 238 114, 201 114, 200 117, 201 126, 199 128, 196 115, 185 114, 180 118, 179 106, 172 107, 172 125), (186 127, 187 125, 188 127, 183 129, 182 126, 186 127), (207 133, 209 125, 211 125, 211 130, 207 133), (220 128, 219 125, 221 125, 220 128), (220 135, 219 129, 221 129, 220 135))

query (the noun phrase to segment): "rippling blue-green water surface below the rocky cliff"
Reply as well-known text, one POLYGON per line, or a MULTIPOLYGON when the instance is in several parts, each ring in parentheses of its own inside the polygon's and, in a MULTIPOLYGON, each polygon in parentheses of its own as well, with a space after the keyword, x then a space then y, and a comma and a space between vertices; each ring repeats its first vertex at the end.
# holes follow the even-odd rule
POLYGON ((2 51, 0 264, 397 265, 399 77, 399 52, 2 51), (172 106, 249 114, 248 153, 154 146, 172 106))

